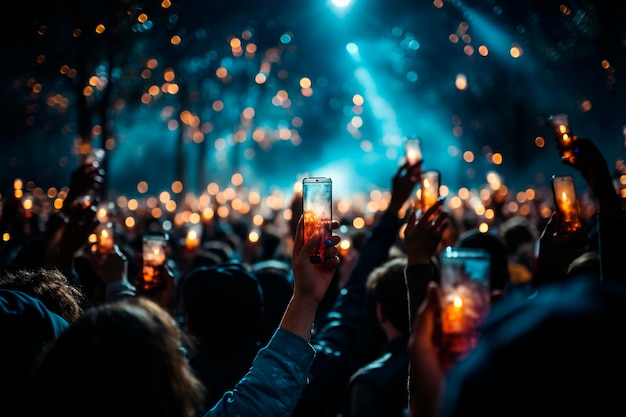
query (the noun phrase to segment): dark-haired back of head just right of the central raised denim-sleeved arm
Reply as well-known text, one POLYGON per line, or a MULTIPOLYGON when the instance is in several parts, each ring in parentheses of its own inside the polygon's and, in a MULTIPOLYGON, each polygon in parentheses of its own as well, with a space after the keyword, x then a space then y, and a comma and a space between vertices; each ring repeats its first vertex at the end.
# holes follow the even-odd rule
POLYGON ((372 270, 367 278, 367 288, 380 303, 382 312, 393 326, 409 331, 409 304, 404 281, 406 257, 396 257, 372 270))

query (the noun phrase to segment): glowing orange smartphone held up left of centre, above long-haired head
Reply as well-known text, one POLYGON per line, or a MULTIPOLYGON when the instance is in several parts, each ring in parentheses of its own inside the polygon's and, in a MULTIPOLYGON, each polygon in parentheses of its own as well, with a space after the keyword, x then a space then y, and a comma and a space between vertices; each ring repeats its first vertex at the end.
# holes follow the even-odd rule
POLYGON ((167 261, 168 233, 147 232, 142 237, 142 280, 143 290, 161 287, 166 284, 163 276, 167 261))

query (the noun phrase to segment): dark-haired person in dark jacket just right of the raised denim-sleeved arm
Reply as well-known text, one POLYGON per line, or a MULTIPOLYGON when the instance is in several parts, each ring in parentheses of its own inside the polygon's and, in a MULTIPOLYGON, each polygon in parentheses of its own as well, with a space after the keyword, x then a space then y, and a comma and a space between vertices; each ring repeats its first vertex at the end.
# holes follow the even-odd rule
POLYGON ((408 297, 404 282, 406 256, 375 268, 367 288, 376 301, 376 317, 386 336, 381 355, 359 368, 348 381, 342 417, 403 417, 408 405, 408 297))

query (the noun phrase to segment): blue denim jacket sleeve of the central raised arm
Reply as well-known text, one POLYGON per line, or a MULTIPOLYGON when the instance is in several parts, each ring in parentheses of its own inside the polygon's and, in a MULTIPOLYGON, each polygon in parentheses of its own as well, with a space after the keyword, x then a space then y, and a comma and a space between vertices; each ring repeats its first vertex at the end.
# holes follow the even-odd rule
POLYGON ((314 357, 315 350, 304 339, 278 329, 250 371, 204 417, 291 416, 314 357))

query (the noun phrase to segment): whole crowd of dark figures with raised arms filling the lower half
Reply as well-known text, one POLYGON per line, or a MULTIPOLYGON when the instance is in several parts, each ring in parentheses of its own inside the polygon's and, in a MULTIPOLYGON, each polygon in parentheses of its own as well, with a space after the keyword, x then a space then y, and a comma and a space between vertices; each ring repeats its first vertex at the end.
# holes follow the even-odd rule
POLYGON ((0 415, 619 412, 626 217, 593 142, 576 138, 561 152, 597 208, 575 232, 557 227, 558 212, 542 223, 499 212, 482 231, 445 198, 423 209, 422 164, 407 162, 348 250, 333 220, 321 264, 309 260, 315 242, 304 242, 298 198, 288 229, 268 230, 260 248, 242 239, 246 225, 214 218, 197 247, 169 239, 164 262, 146 272, 142 239, 162 225, 98 236, 101 167, 79 167, 43 220, 5 196, 0 415), (490 259, 490 310, 462 354, 442 335, 448 246, 490 259))

